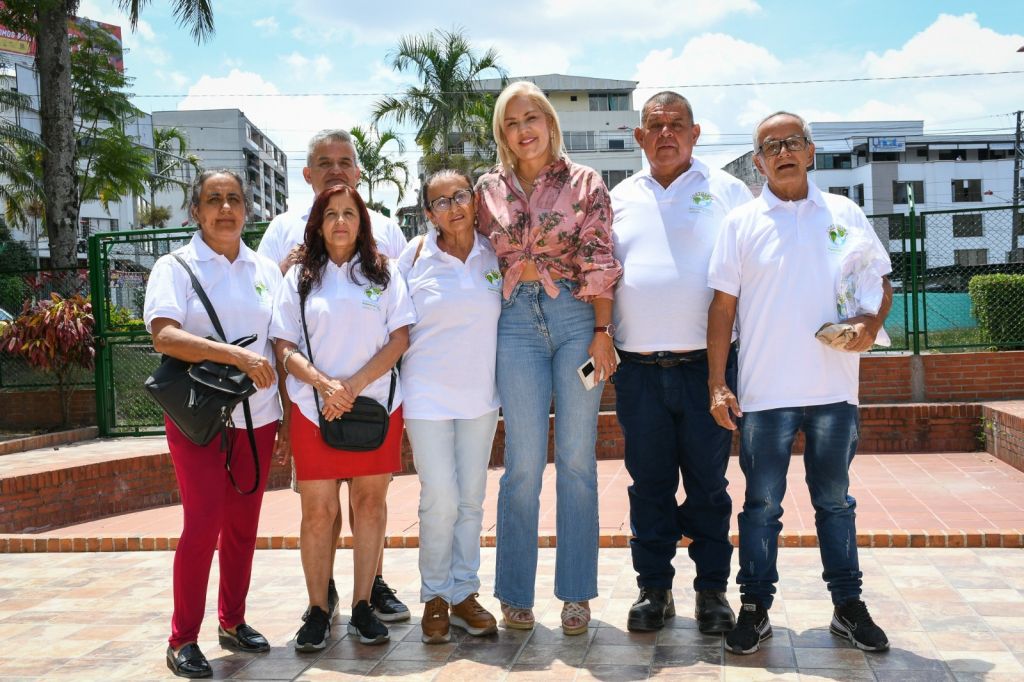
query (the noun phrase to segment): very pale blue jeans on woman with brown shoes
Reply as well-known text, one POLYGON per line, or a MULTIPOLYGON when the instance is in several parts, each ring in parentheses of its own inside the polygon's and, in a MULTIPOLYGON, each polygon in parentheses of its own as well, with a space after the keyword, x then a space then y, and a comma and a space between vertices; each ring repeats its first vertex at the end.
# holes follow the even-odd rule
POLYGON ((407 419, 420 476, 420 601, 459 604, 480 591, 480 526, 498 411, 407 419))

